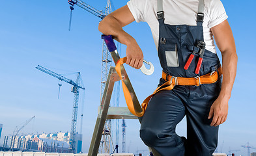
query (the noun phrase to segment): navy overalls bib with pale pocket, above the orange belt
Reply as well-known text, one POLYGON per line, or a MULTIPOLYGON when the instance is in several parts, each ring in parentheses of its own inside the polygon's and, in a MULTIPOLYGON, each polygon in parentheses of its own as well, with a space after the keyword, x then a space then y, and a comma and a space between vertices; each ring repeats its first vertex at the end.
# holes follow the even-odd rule
POLYGON ((158 57, 164 72, 175 77, 196 77, 213 72, 220 67, 220 60, 216 53, 206 49, 198 74, 195 73, 195 68, 199 53, 195 53, 188 70, 184 70, 192 52, 200 50, 197 48, 197 43, 204 41, 202 22, 193 26, 169 25, 164 22, 164 19, 159 19, 159 30, 158 57))

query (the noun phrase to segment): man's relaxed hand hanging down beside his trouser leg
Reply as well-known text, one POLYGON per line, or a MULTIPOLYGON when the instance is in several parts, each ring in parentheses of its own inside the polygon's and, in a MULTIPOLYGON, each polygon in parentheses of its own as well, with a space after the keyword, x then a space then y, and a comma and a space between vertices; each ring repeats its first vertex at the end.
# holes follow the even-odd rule
POLYGON ((227 120, 227 112, 229 109, 229 98, 219 98, 214 101, 212 107, 210 107, 210 113, 208 119, 212 118, 211 126, 218 126, 227 120))

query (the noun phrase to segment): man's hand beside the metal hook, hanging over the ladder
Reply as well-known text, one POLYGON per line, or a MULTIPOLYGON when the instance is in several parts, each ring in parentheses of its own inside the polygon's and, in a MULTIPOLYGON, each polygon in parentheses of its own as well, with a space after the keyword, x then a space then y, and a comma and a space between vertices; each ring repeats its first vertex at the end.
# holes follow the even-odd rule
POLYGON ((143 53, 135 40, 130 42, 126 48, 126 64, 139 69, 143 64, 143 53))

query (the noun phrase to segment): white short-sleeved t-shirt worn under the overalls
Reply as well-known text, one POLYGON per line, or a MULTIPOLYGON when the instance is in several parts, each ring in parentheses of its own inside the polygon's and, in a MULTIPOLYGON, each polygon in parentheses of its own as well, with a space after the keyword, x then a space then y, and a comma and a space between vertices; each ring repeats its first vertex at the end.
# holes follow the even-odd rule
MULTIPOLYGON (((198 4, 198 0, 164 0, 165 24, 197 25, 198 4)), ((145 21, 149 24, 156 49, 158 49, 159 23, 156 15, 158 0, 130 0, 127 5, 135 21, 145 21)), ((205 0, 204 14, 203 34, 206 49, 216 53, 210 28, 225 21, 227 14, 220 0, 205 0)))

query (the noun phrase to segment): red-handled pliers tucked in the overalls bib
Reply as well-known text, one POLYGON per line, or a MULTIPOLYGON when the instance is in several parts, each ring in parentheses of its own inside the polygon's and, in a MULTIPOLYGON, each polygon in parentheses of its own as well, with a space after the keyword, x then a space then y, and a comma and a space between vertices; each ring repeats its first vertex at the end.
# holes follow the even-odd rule
MULTIPOLYGON (((195 68, 195 73, 198 74, 203 62, 203 55, 205 54, 205 42, 203 41, 199 41, 197 42, 197 47, 200 49, 199 50, 199 60, 197 62, 197 68, 195 68)), ((186 62, 184 69, 188 70, 188 67, 190 66, 193 57, 195 56, 195 53, 197 53, 197 51, 193 51, 193 53, 190 55, 190 57, 188 58, 188 61, 186 62)))

